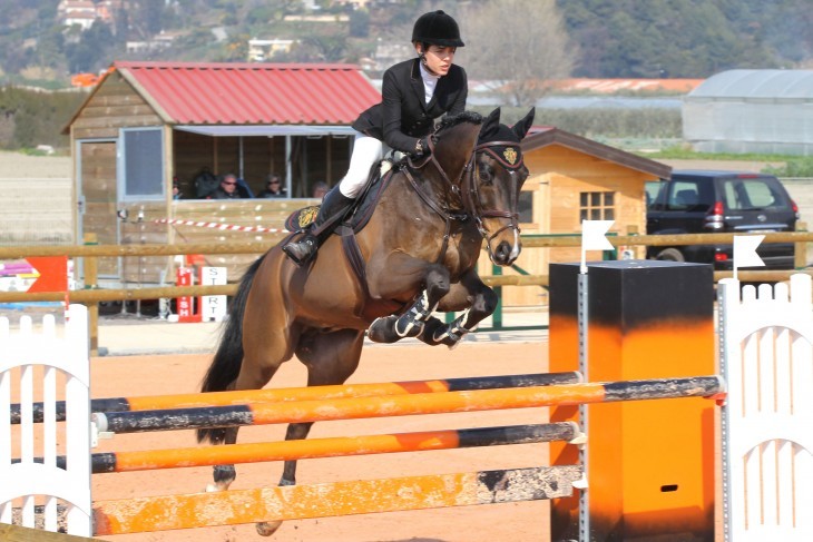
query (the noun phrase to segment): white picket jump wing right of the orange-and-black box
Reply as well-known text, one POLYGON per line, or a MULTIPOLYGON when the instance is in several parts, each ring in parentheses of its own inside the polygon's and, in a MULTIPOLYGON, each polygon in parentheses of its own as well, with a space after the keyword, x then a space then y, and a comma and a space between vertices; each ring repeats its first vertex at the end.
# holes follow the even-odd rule
POLYGON ((725 540, 813 540, 811 277, 718 286, 725 540))

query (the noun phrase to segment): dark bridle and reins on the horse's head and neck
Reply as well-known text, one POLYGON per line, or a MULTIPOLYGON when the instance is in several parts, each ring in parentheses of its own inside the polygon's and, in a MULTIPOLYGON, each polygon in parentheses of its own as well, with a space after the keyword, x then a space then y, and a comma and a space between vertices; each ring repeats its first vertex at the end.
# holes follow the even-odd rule
MULTIPOLYGON (((513 229, 516 233, 516 236, 519 237, 520 228, 519 228, 519 213, 516 210, 518 206, 518 198, 517 198, 517 188, 518 188, 518 173, 519 169, 522 167, 523 159, 521 154, 518 154, 519 160, 509 161, 507 157, 500 156, 496 148, 497 147, 519 147, 519 145, 516 141, 489 141, 486 144, 478 145, 474 148, 474 151, 471 154, 471 157, 469 158, 469 161, 466 164, 466 167, 460 173, 460 176, 456 179, 456 181, 452 181, 447 173, 443 170, 441 165, 438 162, 438 159, 434 156, 434 139, 433 137, 429 138, 429 155, 420 160, 414 160, 413 158, 408 158, 406 164, 409 167, 404 167, 403 171, 406 176, 406 179, 410 181, 410 185, 412 185, 412 188, 415 190, 418 196, 423 200, 427 206, 432 209, 434 213, 437 213, 443 220, 445 221, 445 231, 443 234, 443 245, 441 246, 440 255, 438 257, 438 262, 442 262, 443 257, 445 256, 445 252, 449 247, 449 238, 451 237, 451 224, 454 220, 458 221, 466 221, 469 218, 474 219, 474 224, 477 225, 478 230, 480 231, 480 235, 482 235, 483 239, 486 239, 486 246, 487 250, 489 252, 489 257, 492 258, 493 254, 491 252, 491 240, 497 237, 500 233, 505 231, 506 229, 513 229), (505 209, 487 209, 482 205, 482 200, 480 197, 480 191, 478 189, 479 186, 479 175, 478 175, 478 168, 474 167, 474 160, 477 159, 478 154, 486 152, 489 156, 491 156, 493 159, 496 159, 509 174, 511 179, 511 186, 510 186, 510 201, 509 210, 505 209), (435 201, 430 195, 428 195, 424 190, 421 189, 421 187, 415 181, 414 177, 410 173, 410 168, 412 169, 422 169, 428 164, 432 164, 434 168, 440 174, 441 178, 444 181, 445 185, 445 197, 444 203, 452 204, 456 203, 458 206, 443 206, 442 203, 435 201), (462 186, 462 190, 461 190, 462 186), (451 195, 450 195, 451 193, 451 195), (452 200, 453 199, 457 201, 452 200), (497 231, 491 234, 488 228, 486 227, 483 223, 483 218, 508 218, 510 220, 509 224, 502 226, 497 231)), ((493 259, 493 258, 492 258, 493 259)))

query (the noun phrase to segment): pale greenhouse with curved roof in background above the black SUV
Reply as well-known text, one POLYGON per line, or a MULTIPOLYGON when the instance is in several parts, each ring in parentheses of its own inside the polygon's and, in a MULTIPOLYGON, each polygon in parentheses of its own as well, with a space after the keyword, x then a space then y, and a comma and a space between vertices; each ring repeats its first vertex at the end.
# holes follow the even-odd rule
POLYGON ((813 155, 813 70, 729 70, 683 105, 683 135, 704 152, 813 155))

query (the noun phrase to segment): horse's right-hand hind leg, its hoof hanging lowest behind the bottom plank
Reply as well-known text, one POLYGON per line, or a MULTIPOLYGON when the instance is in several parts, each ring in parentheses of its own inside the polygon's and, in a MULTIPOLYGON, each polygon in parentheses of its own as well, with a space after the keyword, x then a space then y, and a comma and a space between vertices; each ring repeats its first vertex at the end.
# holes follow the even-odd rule
MULTIPOLYGON (((296 348, 296 357, 307 367, 308 386, 343 384, 355 372, 364 345, 364 332, 341 329, 323 333, 303 333, 296 348)), ((292 423, 285 432, 286 441, 307 437, 313 422, 292 423)), ((280 485, 296 484, 296 461, 286 461, 280 485)), ((270 536, 282 525, 282 521, 257 523, 257 532, 270 536)))

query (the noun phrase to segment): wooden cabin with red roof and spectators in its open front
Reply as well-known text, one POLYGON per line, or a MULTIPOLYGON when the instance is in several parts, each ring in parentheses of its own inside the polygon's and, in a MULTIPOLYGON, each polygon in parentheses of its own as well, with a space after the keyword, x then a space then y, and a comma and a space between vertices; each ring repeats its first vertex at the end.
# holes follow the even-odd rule
MULTIPOLYGON (((77 240, 99 244, 257 240, 274 234, 205 225, 281 228, 346 171, 350 125, 380 101, 356 66, 115 62, 65 128, 74 156, 77 240), (202 199, 202 171, 233 173, 255 195, 270 174, 285 198, 202 199), (173 183, 180 199, 173 198, 173 183), (203 223, 204 225, 190 225, 203 223)), ((236 279, 256 258, 218 256, 236 279)), ((174 280, 174 258, 106 258, 101 282, 174 280)))

